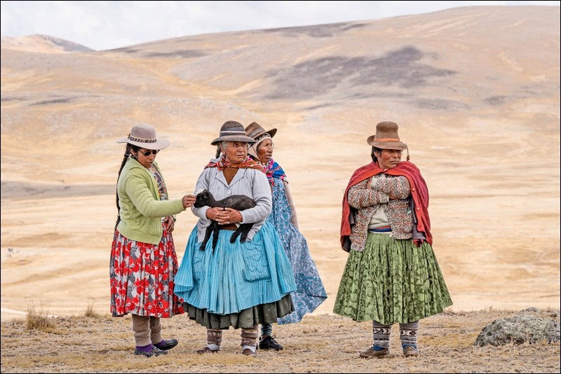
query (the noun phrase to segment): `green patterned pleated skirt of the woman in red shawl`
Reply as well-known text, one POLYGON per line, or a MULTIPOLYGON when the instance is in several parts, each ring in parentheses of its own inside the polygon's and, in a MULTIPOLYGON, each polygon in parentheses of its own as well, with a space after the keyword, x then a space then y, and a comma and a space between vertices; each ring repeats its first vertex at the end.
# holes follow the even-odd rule
POLYGON ((349 254, 333 312, 355 321, 408 324, 452 305, 430 244, 368 233, 349 254))

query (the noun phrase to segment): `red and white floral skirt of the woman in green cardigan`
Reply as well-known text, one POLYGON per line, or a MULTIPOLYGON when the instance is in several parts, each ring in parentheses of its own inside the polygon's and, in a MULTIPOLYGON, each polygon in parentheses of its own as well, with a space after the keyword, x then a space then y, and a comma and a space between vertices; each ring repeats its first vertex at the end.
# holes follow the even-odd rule
POLYGON ((183 300, 173 293, 177 256, 173 237, 162 223, 158 244, 130 240, 115 230, 109 279, 111 314, 169 318, 183 313, 183 300))

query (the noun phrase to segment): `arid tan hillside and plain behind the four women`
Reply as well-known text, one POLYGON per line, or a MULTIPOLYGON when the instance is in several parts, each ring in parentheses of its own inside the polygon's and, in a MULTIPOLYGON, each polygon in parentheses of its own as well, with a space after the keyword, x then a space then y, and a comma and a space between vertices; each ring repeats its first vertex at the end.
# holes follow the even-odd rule
MULTIPOLYGON (((454 8, 100 52, 3 48, 0 79, 3 321, 32 302, 60 317, 88 303, 109 311, 124 150, 115 139, 140 122, 171 141, 157 160, 172 198, 194 191, 226 120, 278 128, 273 157, 328 293, 318 314, 332 311, 346 261, 342 191, 370 162, 366 139, 381 120, 400 125, 428 183, 451 310, 560 305, 559 7, 454 8)), ((195 223, 180 214, 180 258, 195 223)))

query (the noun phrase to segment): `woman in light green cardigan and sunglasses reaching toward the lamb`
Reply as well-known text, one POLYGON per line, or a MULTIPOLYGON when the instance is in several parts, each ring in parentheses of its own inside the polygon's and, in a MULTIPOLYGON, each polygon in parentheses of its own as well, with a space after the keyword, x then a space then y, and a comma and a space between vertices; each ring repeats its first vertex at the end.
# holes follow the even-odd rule
POLYGON ((117 181, 119 216, 109 265, 111 314, 130 313, 135 354, 157 356, 177 345, 175 339, 161 338, 160 318, 183 313, 183 300, 173 293, 177 273, 173 214, 193 206, 196 198, 168 200, 155 158, 170 141, 157 139, 154 127, 134 125, 117 143, 127 146, 117 181))

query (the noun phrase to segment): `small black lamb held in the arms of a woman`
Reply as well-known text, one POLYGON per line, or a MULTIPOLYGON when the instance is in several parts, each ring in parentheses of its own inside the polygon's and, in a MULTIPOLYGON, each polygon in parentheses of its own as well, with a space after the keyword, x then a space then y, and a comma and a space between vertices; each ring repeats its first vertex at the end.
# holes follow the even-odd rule
MULTIPOLYGON (((244 209, 250 209, 252 207, 255 207, 255 205, 257 205, 255 204, 255 200, 245 195, 231 195, 222 200, 215 200, 214 196, 212 196, 212 193, 210 193, 210 191, 208 190, 203 190, 200 193, 197 193, 196 198, 197 200, 193 205, 196 208, 208 206, 211 208, 221 207, 221 208, 232 208, 236 210, 244 210, 244 209)), ((236 228, 236 231, 234 231, 234 233, 232 234, 230 238, 230 242, 234 243, 236 241, 236 238, 240 234, 241 234, 240 242, 245 242, 245 240, 248 239, 248 233, 250 232, 252 227, 253 227, 253 223, 241 223, 240 226, 236 228)), ((210 239, 210 234, 212 233, 214 234, 214 236, 212 236, 212 251, 214 252, 214 250, 216 249, 216 243, 218 242, 219 230, 220 230, 220 225, 218 224, 218 222, 211 219, 210 225, 208 226, 208 228, 206 228, 205 231, 205 239, 201 243, 201 247, 199 247, 201 251, 205 250, 206 244, 210 239)))

